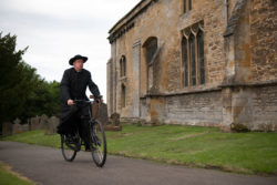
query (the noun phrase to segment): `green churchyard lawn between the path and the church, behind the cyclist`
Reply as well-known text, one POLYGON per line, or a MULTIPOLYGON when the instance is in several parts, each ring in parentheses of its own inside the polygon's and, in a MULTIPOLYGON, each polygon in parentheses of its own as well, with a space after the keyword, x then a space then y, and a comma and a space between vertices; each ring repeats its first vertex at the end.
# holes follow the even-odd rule
MULTIPOLYGON (((106 132, 109 154, 244 174, 277 174, 276 133, 223 133, 216 127, 123 125, 106 132)), ((6 141, 60 147, 59 135, 32 131, 6 141)))

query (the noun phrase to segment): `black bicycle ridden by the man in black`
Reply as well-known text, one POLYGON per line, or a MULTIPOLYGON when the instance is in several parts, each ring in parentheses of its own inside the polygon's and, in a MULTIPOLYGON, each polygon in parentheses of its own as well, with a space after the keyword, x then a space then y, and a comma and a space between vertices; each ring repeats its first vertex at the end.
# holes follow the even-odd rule
MULTIPOLYGON (((91 101, 75 100, 74 104, 85 104, 91 106, 91 101)), ((90 126, 90 151, 93 162, 98 167, 103 167, 106 161, 106 138, 103 125, 95 119, 98 111, 98 103, 93 106, 93 116, 90 109, 89 126, 90 126)), ((61 150, 65 161, 73 162, 76 153, 81 151, 81 146, 84 142, 81 140, 78 127, 73 135, 61 134, 61 150)))

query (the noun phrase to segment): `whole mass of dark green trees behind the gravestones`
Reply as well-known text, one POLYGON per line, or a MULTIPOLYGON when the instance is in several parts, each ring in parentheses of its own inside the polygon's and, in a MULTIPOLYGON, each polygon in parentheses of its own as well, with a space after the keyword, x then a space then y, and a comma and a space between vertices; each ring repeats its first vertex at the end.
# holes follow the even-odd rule
MULTIPOLYGON (((16 51, 17 37, 0 32, 0 124, 16 117, 59 113, 59 86, 47 82, 22 61, 28 48, 16 51)), ((1 127, 1 125, 0 125, 1 127)))

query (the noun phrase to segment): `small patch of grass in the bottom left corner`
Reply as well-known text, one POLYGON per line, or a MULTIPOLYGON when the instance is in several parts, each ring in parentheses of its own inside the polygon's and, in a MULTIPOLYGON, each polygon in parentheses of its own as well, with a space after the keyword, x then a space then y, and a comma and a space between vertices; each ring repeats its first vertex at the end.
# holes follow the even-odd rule
POLYGON ((24 177, 20 176, 19 174, 16 174, 10 169, 9 166, 4 165, 3 163, 0 163, 0 184, 3 185, 32 185, 33 183, 29 179, 25 179, 24 177))

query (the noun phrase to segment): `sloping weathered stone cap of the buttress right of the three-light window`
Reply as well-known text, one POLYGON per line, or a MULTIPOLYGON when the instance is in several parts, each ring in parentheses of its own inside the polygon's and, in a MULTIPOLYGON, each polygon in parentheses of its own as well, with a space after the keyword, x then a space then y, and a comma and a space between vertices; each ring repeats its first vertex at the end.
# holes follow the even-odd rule
POLYGON ((234 31, 235 29, 237 28, 238 25, 238 21, 239 21, 239 18, 240 18, 240 14, 242 14, 242 11, 246 4, 247 0, 238 0, 236 2, 236 6, 232 12, 232 16, 228 20, 228 24, 227 24, 227 28, 224 32, 224 37, 228 37, 230 34, 234 34, 234 31))

